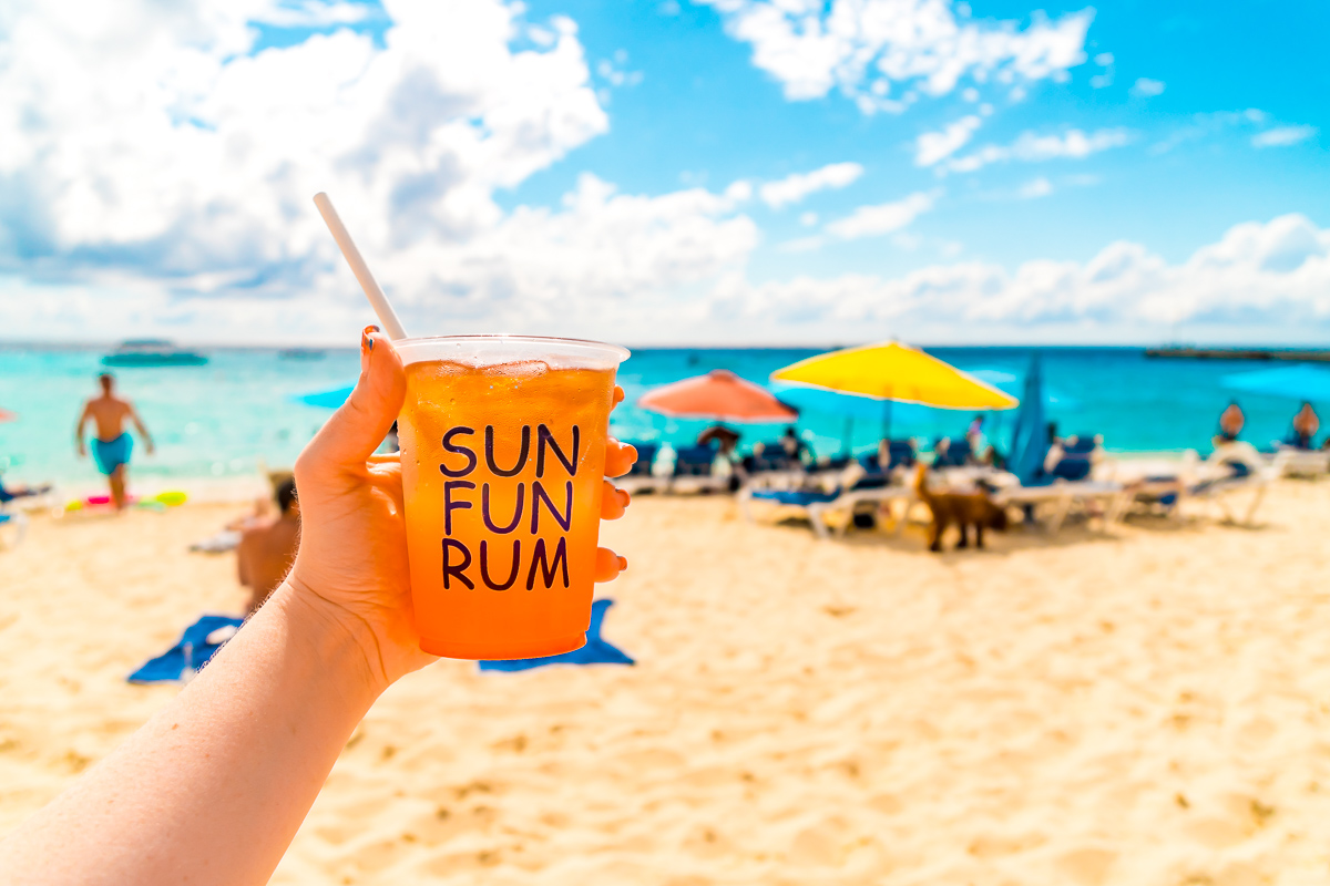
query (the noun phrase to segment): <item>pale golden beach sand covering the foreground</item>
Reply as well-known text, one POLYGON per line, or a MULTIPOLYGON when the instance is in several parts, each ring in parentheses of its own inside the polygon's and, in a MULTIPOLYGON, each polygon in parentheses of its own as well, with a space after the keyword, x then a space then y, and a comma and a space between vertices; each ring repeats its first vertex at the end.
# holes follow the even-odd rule
MULTIPOLYGON (((177 691, 129 671, 238 610, 231 557, 185 551, 238 511, 0 553, 0 830, 177 691)), ((404 679, 273 882, 1325 883, 1330 485, 1261 518, 938 557, 641 497, 601 586, 638 664, 404 679)))

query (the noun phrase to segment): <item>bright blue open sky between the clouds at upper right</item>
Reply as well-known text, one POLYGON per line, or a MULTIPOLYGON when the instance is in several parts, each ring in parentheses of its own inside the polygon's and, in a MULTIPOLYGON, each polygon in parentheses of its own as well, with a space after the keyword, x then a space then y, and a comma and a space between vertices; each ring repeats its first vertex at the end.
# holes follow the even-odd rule
MULTIPOLYGON (((978 20, 1021 24, 1032 12, 1019 3, 971 7, 978 20)), ((1057 17, 1087 7, 1040 8, 1057 17)), ((750 49, 728 39, 720 16, 706 7, 535 0, 529 9, 535 19, 568 15, 579 23, 593 68, 609 61, 640 72, 641 82, 610 88, 609 133, 504 195, 511 203, 557 201, 580 171, 595 171, 624 190, 662 193, 854 161, 866 173, 853 187, 801 205, 821 214, 845 213, 936 187, 935 175, 912 162, 914 139, 972 113, 972 104, 956 94, 871 117, 837 92, 787 101, 779 84, 750 64, 750 49), (626 53, 626 61, 614 62, 617 52, 626 53)), ((1181 260, 1237 222, 1291 211, 1330 222, 1330 163, 1321 134, 1330 109, 1330 68, 1314 61, 1327 32, 1330 7, 1314 3, 1095 7, 1085 41, 1091 60, 1071 69, 1065 84, 1043 81, 1019 102, 995 100, 984 134, 1001 142, 1031 129, 1127 128, 1132 142, 1087 159, 1008 163, 948 181, 946 199, 915 230, 926 240, 960 242, 963 255, 1015 264, 1032 258, 1083 260, 1115 239, 1138 240, 1181 260), (1113 82, 1095 88, 1092 78, 1105 72, 1093 61, 1100 53, 1113 56, 1113 82), (1162 82, 1164 92, 1133 96, 1141 77, 1162 82), (1265 112, 1269 122, 1197 121, 1248 109, 1265 112), (1286 125, 1321 132, 1286 147, 1253 147, 1258 129, 1286 125), (1161 150, 1170 139, 1178 139, 1177 146, 1161 150), (1013 197, 1039 177, 1048 178, 1053 194, 1013 197), (1088 177, 1097 181, 1073 183, 1088 177)), ((767 239, 754 255, 758 275, 899 272, 920 258, 942 258, 930 255, 927 246, 884 250, 867 240, 834 244, 814 256, 771 248, 801 235, 798 215, 759 215, 767 239)))

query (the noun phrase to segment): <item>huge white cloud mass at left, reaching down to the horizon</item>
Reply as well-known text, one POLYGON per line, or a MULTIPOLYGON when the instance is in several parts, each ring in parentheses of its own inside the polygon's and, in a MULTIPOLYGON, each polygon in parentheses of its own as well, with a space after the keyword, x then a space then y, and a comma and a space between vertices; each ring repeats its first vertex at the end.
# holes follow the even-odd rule
POLYGON ((0 280, 51 299, 4 304, 9 335, 340 335, 366 311, 318 190, 418 329, 576 332, 602 302, 732 274, 755 246, 734 213, 747 182, 646 198, 585 177, 557 211, 497 206, 608 128, 567 19, 516 50, 517 4, 387 0, 382 45, 340 29, 253 53, 249 21, 350 16, 164 9, 5 8, 0 280))

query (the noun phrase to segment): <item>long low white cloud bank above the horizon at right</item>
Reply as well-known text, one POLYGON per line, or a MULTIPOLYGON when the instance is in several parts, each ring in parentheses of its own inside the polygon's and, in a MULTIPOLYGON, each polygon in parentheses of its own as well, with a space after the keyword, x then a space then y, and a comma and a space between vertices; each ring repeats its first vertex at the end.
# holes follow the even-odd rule
POLYGON ((735 287, 714 311, 798 321, 803 328, 882 329, 956 340, 995 328, 1166 329, 1176 323, 1330 327, 1330 230, 1302 215, 1232 227, 1217 243, 1169 264, 1136 243, 1111 243, 1088 262, 1031 260, 1008 271, 967 262, 904 276, 809 276, 735 287))

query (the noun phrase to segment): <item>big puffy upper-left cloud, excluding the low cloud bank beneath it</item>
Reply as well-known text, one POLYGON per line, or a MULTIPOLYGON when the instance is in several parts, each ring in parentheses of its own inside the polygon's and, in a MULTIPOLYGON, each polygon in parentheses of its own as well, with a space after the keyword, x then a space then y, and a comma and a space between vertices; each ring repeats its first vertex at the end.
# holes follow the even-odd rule
MULTIPOLYGON (((310 9, 307 4, 302 9, 310 9)), ((250 54, 269 0, 8 11, 0 69, 0 270, 132 272, 180 288, 309 284, 334 267, 309 209, 329 190, 382 256, 499 222, 491 194, 605 132, 575 25, 515 52, 496 0, 388 0, 351 31, 250 54), (77 74, 72 74, 77 72, 77 74)), ((418 296, 406 294, 406 298, 418 296)))

